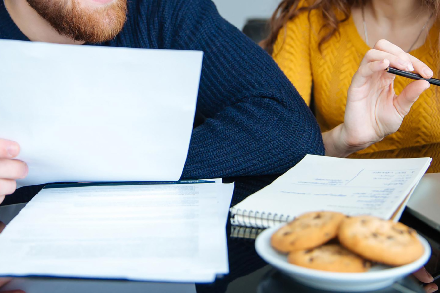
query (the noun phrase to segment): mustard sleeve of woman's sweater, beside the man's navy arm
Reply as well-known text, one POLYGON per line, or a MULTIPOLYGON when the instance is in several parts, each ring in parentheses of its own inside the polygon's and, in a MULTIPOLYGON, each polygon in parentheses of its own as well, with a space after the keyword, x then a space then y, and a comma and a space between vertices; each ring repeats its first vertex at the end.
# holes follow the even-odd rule
POLYGON ((272 54, 307 105, 312 96, 310 27, 308 12, 301 12, 280 30, 272 54))

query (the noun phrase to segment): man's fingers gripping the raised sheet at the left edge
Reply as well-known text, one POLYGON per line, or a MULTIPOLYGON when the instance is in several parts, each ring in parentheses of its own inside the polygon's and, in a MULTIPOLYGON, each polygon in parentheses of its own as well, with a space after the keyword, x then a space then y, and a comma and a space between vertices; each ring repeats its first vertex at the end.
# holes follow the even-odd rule
POLYGON ((15 192, 16 179, 28 174, 26 163, 14 159, 20 153, 20 146, 15 141, 0 138, 0 203, 4 196, 15 192))

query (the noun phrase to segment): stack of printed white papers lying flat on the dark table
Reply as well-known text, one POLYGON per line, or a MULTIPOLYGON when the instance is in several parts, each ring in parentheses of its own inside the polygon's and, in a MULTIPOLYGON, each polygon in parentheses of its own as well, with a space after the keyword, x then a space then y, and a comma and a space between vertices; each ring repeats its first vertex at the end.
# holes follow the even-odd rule
POLYGON ((0 275, 212 282, 228 272, 233 188, 43 189, 0 234, 0 275))

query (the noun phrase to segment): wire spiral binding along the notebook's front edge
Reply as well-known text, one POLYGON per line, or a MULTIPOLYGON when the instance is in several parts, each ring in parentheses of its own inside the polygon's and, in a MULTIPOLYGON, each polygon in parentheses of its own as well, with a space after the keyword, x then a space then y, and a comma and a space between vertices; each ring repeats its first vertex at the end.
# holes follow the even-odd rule
POLYGON ((292 221, 295 217, 290 215, 260 212, 253 210, 231 209, 231 224, 251 228, 269 228, 280 223, 292 221))

